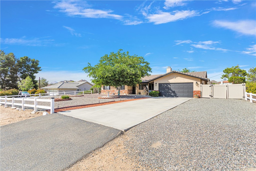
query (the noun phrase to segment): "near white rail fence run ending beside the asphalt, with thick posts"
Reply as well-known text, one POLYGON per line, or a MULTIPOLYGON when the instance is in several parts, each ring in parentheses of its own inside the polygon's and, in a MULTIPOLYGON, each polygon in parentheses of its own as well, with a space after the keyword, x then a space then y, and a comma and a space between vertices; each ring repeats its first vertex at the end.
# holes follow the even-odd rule
POLYGON ((54 98, 51 99, 39 99, 39 98, 7 98, 7 97, 0 97, 0 103, 4 104, 4 107, 7 107, 7 105, 12 105, 12 107, 16 106, 21 106, 22 110, 25 109, 25 107, 33 107, 35 112, 37 111, 37 108, 40 109, 50 109, 51 110, 51 114, 54 113, 54 98), (2 100, 4 99, 4 102, 2 102, 2 100), (12 102, 8 102, 7 100, 12 100, 12 102), (16 100, 16 101, 15 101, 16 100), (21 101, 21 103, 15 103, 17 101, 21 101), (33 101, 34 104, 25 104, 25 101, 33 101), (37 102, 50 102, 50 106, 40 106, 37 105, 37 102))

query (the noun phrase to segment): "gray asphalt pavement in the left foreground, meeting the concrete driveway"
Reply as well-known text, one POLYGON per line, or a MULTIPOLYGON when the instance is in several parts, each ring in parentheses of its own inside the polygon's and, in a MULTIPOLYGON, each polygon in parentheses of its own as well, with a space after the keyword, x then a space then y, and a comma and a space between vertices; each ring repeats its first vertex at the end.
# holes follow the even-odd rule
POLYGON ((120 133, 57 113, 0 129, 0 170, 63 170, 120 133))

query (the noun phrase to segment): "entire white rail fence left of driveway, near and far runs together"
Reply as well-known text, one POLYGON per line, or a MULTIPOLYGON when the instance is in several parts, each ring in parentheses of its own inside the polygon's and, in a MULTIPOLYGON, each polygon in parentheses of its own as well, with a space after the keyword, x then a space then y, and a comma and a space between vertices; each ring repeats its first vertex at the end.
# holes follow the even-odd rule
POLYGON ((59 96, 59 95, 76 95, 76 94, 92 94, 92 91, 90 90, 90 91, 74 91, 74 92, 59 92, 59 93, 39 93, 39 94, 28 95, 28 96, 32 96, 32 95, 38 95, 38 96, 27 97, 27 95, 23 95, 25 97, 22 97, 22 98, 19 97, 21 95, 1 96, 0 104, 4 104, 5 107, 7 107, 7 105, 12 105, 12 107, 14 107, 15 105, 22 106, 22 109, 25 109, 25 107, 34 107, 35 112, 37 111, 37 108, 50 109, 52 114, 54 113, 54 98, 40 99, 40 97, 59 96), (7 100, 12 100, 12 102, 7 102, 7 100), (15 103, 15 100, 21 101, 21 103, 15 103), (25 104, 25 101, 34 101, 34 105, 25 104), (50 106, 40 106, 40 105, 37 105, 37 102, 50 102, 50 106))

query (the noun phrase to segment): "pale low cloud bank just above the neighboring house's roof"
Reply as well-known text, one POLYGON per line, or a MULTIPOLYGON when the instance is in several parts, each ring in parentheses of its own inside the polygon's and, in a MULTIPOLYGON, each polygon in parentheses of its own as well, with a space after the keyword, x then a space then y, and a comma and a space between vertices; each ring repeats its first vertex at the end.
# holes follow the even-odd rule
POLYGON ((73 81, 79 81, 81 79, 85 79, 89 82, 90 77, 83 72, 83 71, 39 71, 37 74, 35 74, 37 79, 39 77, 44 77, 47 79, 47 81, 53 82, 53 81, 63 81, 63 80, 73 80, 73 81))

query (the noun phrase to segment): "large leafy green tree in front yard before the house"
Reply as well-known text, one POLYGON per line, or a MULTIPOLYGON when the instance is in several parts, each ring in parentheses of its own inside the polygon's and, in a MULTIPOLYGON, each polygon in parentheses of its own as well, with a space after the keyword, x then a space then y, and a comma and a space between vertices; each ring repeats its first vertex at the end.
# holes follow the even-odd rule
POLYGON ((83 68, 83 71, 93 78, 92 83, 118 88, 118 96, 122 85, 136 86, 141 82, 141 77, 149 76, 148 72, 151 72, 149 63, 142 56, 130 56, 128 51, 121 51, 122 49, 119 49, 117 53, 106 54, 100 58, 97 65, 91 66, 88 63, 88 66, 83 68))

